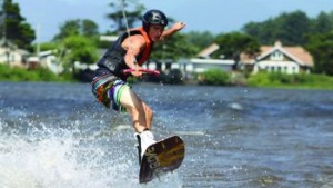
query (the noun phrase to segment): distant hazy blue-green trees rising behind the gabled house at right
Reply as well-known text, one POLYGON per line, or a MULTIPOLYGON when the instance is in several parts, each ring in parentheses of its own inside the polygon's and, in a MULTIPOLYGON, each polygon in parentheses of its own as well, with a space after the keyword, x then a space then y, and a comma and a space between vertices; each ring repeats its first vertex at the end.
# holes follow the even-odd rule
POLYGON ((249 22, 242 31, 255 37, 261 44, 272 44, 276 40, 286 46, 304 46, 309 34, 324 33, 333 29, 333 12, 321 12, 309 18, 303 11, 284 12, 262 22, 249 22))

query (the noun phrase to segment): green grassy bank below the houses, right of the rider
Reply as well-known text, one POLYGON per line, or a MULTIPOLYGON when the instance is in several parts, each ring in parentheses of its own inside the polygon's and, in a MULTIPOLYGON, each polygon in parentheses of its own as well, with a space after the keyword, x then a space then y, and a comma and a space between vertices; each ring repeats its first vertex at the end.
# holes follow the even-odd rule
POLYGON ((281 72, 259 72, 248 78, 241 72, 225 72, 212 69, 198 76, 200 85, 213 86, 249 86, 265 88, 289 89, 331 89, 333 90, 333 77, 324 75, 301 73, 286 75, 281 72))

